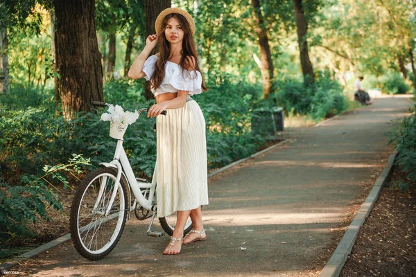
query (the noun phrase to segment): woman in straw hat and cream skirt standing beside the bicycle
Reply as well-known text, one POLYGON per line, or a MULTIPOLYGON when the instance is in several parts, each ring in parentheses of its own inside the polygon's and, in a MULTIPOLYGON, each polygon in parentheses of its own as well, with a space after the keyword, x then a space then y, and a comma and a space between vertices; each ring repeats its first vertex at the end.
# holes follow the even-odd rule
POLYGON ((193 35, 195 23, 188 12, 167 8, 157 17, 156 34, 146 39, 128 72, 133 79, 150 80, 156 104, 148 116, 158 116, 156 182, 157 216, 177 213, 177 222, 166 255, 180 253, 183 244, 205 240, 201 205, 208 204, 205 119, 190 96, 207 90, 198 66, 193 35), (159 53, 150 55, 159 44, 159 53), (193 229, 183 238, 191 217, 193 229), (183 241, 182 241, 183 238, 183 241))

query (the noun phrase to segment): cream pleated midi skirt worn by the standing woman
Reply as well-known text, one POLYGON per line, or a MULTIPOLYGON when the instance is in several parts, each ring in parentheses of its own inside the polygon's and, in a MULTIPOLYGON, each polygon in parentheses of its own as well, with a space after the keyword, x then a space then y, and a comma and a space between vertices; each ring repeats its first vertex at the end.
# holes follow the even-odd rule
MULTIPOLYGON (((157 116, 157 217, 208 204, 205 118, 195 100, 157 116)), ((154 184, 154 183, 153 183, 154 184)))

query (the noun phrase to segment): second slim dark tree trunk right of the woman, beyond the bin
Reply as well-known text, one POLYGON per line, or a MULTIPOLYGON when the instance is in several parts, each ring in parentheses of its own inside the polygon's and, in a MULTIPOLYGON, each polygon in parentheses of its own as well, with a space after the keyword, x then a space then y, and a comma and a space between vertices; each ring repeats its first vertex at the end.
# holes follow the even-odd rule
POLYGON ((302 66, 304 82, 305 84, 312 84, 315 76, 313 75, 311 60, 309 60, 307 41, 308 22, 306 22, 306 18, 304 16, 302 0, 293 0, 293 7, 295 10, 295 19, 297 26, 297 43, 299 44, 300 64, 302 66))

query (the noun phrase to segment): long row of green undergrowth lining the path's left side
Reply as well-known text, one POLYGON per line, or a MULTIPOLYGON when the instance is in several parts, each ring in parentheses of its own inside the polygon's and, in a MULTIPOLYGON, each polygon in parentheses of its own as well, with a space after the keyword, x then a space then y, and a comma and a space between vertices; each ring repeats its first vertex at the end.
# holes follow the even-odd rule
MULTIPOLYGON (((209 169, 248 157, 266 145, 269 135, 266 132, 254 134, 251 130, 253 111, 259 107, 282 105, 286 110, 309 114, 316 120, 344 108, 341 87, 328 78, 318 79, 315 86, 308 89, 302 82, 284 80, 279 83, 275 97, 268 100, 261 99, 261 85, 227 81, 234 79, 227 74, 219 75, 220 83, 208 84, 209 91, 193 97, 207 123, 209 169)), ((143 80, 109 82, 105 84, 104 95, 106 102, 130 111, 150 107, 154 102, 144 100, 143 80)), ((45 164, 64 168, 73 153, 76 157, 91 159, 91 163, 83 163, 88 170, 101 161, 112 160, 116 140, 108 135, 110 124, 99 120, 103 111, 105 109, 78 113, 71 120, 65 120, 55 104, 52 90, 17 87, 8 96, 1 96, 0 232, 3 235, 0 240, 27 234, 28 220, 48 220, 47 204, 60 208, 51 186, 63 182, 65 187, 68 181, 64 175, 53 175, 48 181, 35 177, 49 172, 45 164)), ((153 174, 154 123, 155 118, 141 116, 125 135, 125 151, 138 177, 153 174)))

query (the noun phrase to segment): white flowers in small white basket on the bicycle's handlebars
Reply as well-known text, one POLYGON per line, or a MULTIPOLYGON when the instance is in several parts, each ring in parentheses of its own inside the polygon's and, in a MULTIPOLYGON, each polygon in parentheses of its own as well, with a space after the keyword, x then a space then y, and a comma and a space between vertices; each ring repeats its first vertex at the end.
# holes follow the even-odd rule
POLYGON ((114 139, 123 139, 127 126, 139 118, 135 112, 124 111, 119 105, 109 105, 108 111, 101 115, 101 120, 110 121, 110 136, 114 139))

